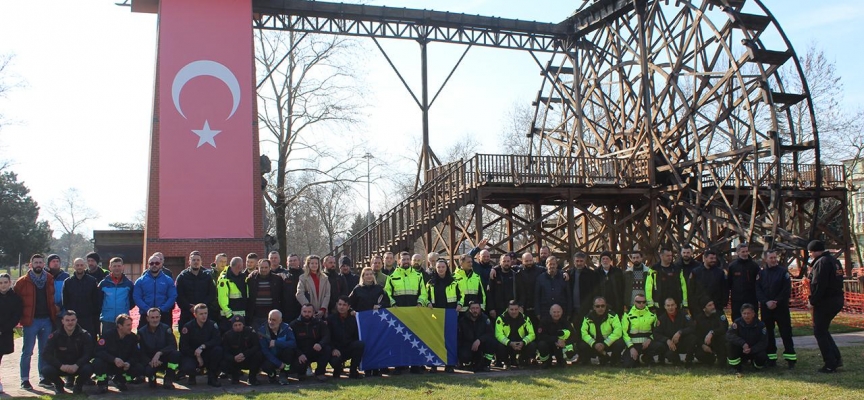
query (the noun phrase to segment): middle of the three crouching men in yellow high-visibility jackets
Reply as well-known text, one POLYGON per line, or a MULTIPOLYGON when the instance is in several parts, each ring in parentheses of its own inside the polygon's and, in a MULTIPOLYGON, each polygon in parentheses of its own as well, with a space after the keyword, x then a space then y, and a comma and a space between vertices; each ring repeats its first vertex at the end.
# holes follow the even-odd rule
POLYGON ((582 320, 582 341, 579 342, 579 363, 588 365, 592 357, 599 357, 600 364, 617 365, 624 351, 621 340, 621 321, 614 313, 607 312, 606 299, 594 300, 594 309, 582 320))

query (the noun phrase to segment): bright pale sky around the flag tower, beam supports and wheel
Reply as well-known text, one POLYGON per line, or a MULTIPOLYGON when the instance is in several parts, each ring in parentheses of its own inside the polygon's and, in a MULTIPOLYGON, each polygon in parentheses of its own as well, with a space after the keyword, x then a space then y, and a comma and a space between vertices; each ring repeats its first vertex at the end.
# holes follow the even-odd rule
MULTIPOLYGON (((581 2, 379 0, 372 4, 430 8, 557 22, 581 2)), ((766 0, 802 50, 816 43, 845 82, 844 103, 864 103, 864 10, 860 0, 766 0)), ((132 14, 112 0, 0 2, 0 54, 13 53, 11 79, 24 86, 0 99, 12 123, 0 131, 0 159, 48 204, 76 187, 101 218, 89 229, 130 221, 145 207, 147 155, 156 54, 156 17, 132 14)), ((404 152, 419 141, 420 112, 368 39, 360 69, 372 107, 353 134, 378 155, 404 152)), ((416 43, 384 46, 419 90, 416 43)), ((430 82, 437 87, 461 54, 460 46, 430 45, 430 82)), ((461 135, 474 135, 483 151, 497 151, 497 132, 516 102, 530 102, 540 85, 526 53, 472 49, 431 112, 432 146, 443 151, 461 135)), ((385 188, 376 188, 381 204, 385 188)), ((365 190, 360 191, 365 196, 365 190)), ((194 196, 194 194, 192 194, 194 196)), ((358 207, 365 198, 358 196, 358 207)), ((380 207, 380 206, 379 206, 380 207)))

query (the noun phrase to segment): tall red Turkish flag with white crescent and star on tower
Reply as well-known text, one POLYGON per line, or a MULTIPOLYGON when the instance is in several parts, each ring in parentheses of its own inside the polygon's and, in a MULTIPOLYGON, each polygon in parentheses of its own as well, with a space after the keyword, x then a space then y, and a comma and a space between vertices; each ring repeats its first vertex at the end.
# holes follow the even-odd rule
POLYGON ((159 7, 159 237, 254 238, 252 2, 159 7))

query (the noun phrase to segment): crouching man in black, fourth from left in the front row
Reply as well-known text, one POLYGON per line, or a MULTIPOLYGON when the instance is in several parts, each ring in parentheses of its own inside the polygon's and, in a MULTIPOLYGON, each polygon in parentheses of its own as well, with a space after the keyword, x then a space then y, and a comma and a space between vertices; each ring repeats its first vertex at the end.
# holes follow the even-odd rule
POLYGON ((207 384, 213 387, 219 383, 219 362, 222 361, 222 338, 219 326, 208 320, 207 305, 195 305, 195 319, 183 325, 180 330, 180 373, 189 377, 187 386, 194 386, 196 370, 207 368, 207 384))

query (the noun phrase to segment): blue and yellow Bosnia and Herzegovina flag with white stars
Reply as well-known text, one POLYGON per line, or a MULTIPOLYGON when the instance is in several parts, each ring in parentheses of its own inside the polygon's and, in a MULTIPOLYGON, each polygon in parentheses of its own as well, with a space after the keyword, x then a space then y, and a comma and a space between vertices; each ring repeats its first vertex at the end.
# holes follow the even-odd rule
POLYGON ((366 345, 363 370, 412 365, 456 365, 454 309, 397 307, 357 313, 366 345))

